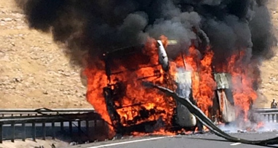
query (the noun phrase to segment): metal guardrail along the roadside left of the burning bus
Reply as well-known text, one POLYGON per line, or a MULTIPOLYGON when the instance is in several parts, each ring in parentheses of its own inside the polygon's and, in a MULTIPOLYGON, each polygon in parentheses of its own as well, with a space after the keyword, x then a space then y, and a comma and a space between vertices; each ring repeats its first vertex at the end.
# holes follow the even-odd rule
POLYGON ((85 137, 85 141, 90 141, 98 125, 105 124, 93 109, 0 109, 0 116, 0 143, 26 138, 55 139, 65 133, 77 140, 85 137))

